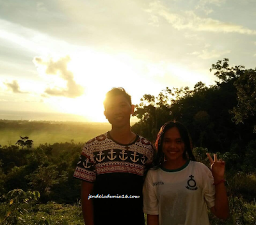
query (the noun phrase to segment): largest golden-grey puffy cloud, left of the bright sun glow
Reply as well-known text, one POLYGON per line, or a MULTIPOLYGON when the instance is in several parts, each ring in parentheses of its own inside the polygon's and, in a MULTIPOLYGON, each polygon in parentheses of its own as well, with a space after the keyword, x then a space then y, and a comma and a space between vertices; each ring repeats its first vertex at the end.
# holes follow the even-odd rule
POLYGON ((67 98, 76 98, 84 94, 84 88, 74 81, 73 73, 67 68, 69 61, 70 57, 68 55, 58 59, 58 61, 53 61, 52 58, 45 61, 40 57, 35 57, 33 59, 36 66, 44 67, 44 72, 47 75, 58 75, 67 82, 67 86, 65 88, 58 86, 53 88, 48 87, 45 89, 46 94, 51 96, 64 96, 67 98))

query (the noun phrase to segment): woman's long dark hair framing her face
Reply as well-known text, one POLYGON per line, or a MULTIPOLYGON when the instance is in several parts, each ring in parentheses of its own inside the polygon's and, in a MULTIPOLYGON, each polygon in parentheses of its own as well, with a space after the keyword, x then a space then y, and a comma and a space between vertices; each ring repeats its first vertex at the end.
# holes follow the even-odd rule
POLYGON ((185 149, 182 154, 183 159, 190 159, 191 161, 196 161, 195 156, 193 155, 193 152, 192 152, 192 144, 191 144, 188 130, 180 122, 170 121, 170 122, 166 122, 161 127, 159 133, 157 134, 157 139, 155 144, 157 153, 153 163, 153 166, 156 169, 159 168, 159 166, 164 162, 164 153, 163 153, 164 134, 166 133, 166 131, 168 131, 168 129, 171 129, 172 127, 177 127, 177 129, 179 130, 182 142, 184 142, 185 149))

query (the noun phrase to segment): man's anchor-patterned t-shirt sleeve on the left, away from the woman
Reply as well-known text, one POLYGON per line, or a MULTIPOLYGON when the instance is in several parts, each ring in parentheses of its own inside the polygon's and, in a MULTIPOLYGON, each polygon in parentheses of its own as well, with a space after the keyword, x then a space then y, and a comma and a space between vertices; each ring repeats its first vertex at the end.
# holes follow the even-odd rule
POLYGON ((87 182, 94 182, 96 180, 95 161, 93 160, 93 154, 88 144, 85 144, 83 147, 74 177, 87 182))

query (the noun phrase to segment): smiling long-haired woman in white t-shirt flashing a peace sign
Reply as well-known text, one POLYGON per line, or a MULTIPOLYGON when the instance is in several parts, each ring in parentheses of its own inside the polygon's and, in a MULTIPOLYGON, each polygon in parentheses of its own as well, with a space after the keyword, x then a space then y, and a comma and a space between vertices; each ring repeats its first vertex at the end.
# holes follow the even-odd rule
POLYGON ((207 207, 220 219, 228 217, 225 162, 207 154, 211 170, 193 156, 188 131, 167 122, 156 140, 155 167, 143 187, 143 210, 148 225, 207 225, 207 207))

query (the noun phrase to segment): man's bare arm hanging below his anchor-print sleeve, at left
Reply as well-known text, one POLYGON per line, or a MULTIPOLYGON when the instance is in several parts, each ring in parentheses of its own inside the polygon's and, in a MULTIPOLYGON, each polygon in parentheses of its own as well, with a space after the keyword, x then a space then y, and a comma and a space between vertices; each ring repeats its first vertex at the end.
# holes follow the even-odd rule
POLYGON ((93 192, 93 183, 90 182, 82 182, 82 189, 81 189, 81 202, 82 202, 82 210, 83 210, 83 217, 84 222, 86 225, 93 225, 93 200, 90 198, 88 200, 89 194, 93 192))

